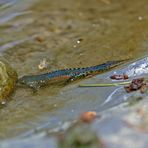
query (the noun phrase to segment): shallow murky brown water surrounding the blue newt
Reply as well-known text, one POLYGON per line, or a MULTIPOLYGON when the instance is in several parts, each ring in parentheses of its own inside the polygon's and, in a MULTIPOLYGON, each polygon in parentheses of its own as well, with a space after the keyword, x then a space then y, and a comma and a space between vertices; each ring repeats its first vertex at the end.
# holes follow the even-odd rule
MULTIPOLYGON (((49 71, 136 59, 148 54, 147 10, 146 0, 5 1, 0 51, 19 76, 41 73, 38 64, 44 58, 49 71)), ((50 86, 37 94, 16 89, 0 111, 0 138, 44 125, 52 129, 80 112, 97 110, 106 92, 98 95, 97 88, 83 90, 77 84, 50 86)))

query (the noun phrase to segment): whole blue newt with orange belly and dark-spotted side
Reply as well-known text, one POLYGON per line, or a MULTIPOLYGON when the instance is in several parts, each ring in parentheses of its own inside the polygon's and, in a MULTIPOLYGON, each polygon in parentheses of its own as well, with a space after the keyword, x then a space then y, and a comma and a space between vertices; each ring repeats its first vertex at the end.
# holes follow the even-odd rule
POLYGON ((34 90, 37 90, 40 87, 49 84, 59 84, 60 82, 64 82, 64 84, 66 84, 66 82, 93 76, 104 71, 110 70, 111 68, 118 66, 124 61, 126 60, 107 61, 106 63, 100 65, 85 68, 69 68, 39 75, 26 75, 19 78, 18 84, 31 87, 34 90))

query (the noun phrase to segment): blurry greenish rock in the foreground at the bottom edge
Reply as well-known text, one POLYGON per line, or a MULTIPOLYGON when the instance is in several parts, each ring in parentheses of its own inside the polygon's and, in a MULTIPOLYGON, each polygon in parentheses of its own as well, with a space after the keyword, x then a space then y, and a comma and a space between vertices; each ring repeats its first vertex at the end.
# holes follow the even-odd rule
POLYGON ((89 124, 76 123, 59 136, 59 148, 102 148, 103 143, 89 124))

